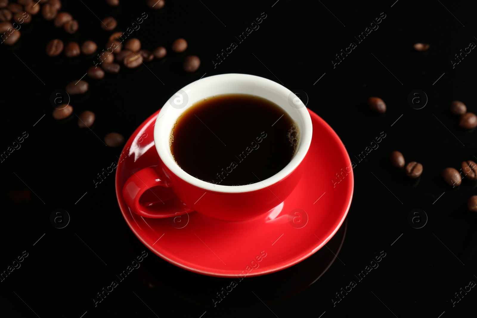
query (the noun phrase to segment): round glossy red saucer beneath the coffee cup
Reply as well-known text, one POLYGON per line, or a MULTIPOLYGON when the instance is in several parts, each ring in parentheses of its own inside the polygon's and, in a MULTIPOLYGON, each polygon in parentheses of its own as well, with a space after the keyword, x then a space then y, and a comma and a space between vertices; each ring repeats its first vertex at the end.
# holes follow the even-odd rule
POLYGON ((299 185, 265 216, 233 222, 197 212, 166 219, 143 218, 124 203, 122 190, 129 176, 160 160, 153 133, 157 111, 129 138, 118 163, 116 196, 126 223, 156 255, 209 276, 259 276, 311 256, 341 226, 351 205, 354 181, 341 140, 318 115, 309 112, 313 137, 301 163, 307 167, 299 185))

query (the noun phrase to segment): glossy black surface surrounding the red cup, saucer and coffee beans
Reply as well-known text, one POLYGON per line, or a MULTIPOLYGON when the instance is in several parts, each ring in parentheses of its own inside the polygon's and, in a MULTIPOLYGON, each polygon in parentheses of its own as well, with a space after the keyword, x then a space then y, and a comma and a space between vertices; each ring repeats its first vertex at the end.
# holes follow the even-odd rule
MULTIPOLYGON (((477 195, 477 185, 464 180, 452 188, 441 172, 446 167, 459 169, 463 160, 477 156, 476 132, 461 130, 448 111, 450 102, 461 100, 468 111, 477 113, 477 53, 472 50, 455 68, 450 62, 459 50, 477 42, 477 4, 275 1, 171 0, 160 11, 147 9, 145 1, 121 0, 116 8, 98 0, 63 1, 62 10, 79 21, 77 33, 67 34, 37 15, 31 24, 22 25, 21 39, 14 46, 0 44, 0 152, 28 133, 21 148, 0 164, 0 270, 22 251, 29 253, 21 267, 0 283, 2 317, 437 318, 442 314, 445 318, 475 310, 475 288, 454 307, 451 297, 469 281, 477 281, 476 215, 466 207, 467 199, 477 195), (93 40, 102 47, 111 32, 100 28, 99 19, 114 16, 120 31, 142 12, 148 17, 132 37, 139 38, 143 48, 169 49, 172 41, 184 37, 187 51, 169 50, 164 61, 123 69, 100 81, 85 77, 90 89, 72 97, 73 115, 53 120, 50 94, 81 78, 93 65, 93 57, 49 58, 44 50, 48 41, 93 40), (215 55, 262 12, 267 18, 259 30, 214 68, 215 55), (381 12, 386 17, 379 29, 333 68, 335 54, 356 42, 354 36, 381 12), (430 43, 430 49, 417 52, 415 42, 430 43), (181 69, 189 54, 202 61, 193 74, 181 69), (352 160, 386 133, 379 148, 354 168, 341 261, 336 259, 320 279, 301 290, 324 270, 323 260, 334 257, 330 250, 338 251, 344 224, 327 245, 330 250, 322 248, 280 273, 246 279, 214 308, 211 298, 229 284, 227 279, 188 272, 149 252, 143 266, 94 307, 96 293, 147 250, 124 222, 114 176, 94 187, 96 174, 120 154, 119 148, 104 145, 104 135, 118 132, 128 137, 187 83, 204 74, 232 72, 259 75, 306 92, 307 106, 332 126, 352 160), (428 97, 420 110, 406 101, 415 89, 428 97), (369 96, 381 97, 387 112, 372 113, 366 106, 369 96), (74 114, 86 109, 96 113, 93 132, 77 127, 74 114), (389 164, 393 150, 400 150, 406 162, 423 164, 417 181, 407 180, 403 171, 389 164), (25 196, 19 191, 26 191, 25 196), (65 228, 50 223, 56 208, 71 216, 65 228), (415 208, 428 217, 420 229, 407 220, 415 208), (386 256, 379 267, 333 307, 335 293, 381 251, 386 256)), ((316 182, 330 181, 316 176, 316 182)))

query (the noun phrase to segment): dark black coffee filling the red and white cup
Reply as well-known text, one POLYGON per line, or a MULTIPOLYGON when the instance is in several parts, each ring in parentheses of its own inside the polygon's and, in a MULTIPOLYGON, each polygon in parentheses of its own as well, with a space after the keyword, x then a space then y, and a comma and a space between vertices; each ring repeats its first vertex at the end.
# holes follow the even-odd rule
POLYGON ((188 174, 217 185, 249 185, 293 158, 298 126, 277 104, 225 94, 192 105, 171 132, 171 152, 188 174))

